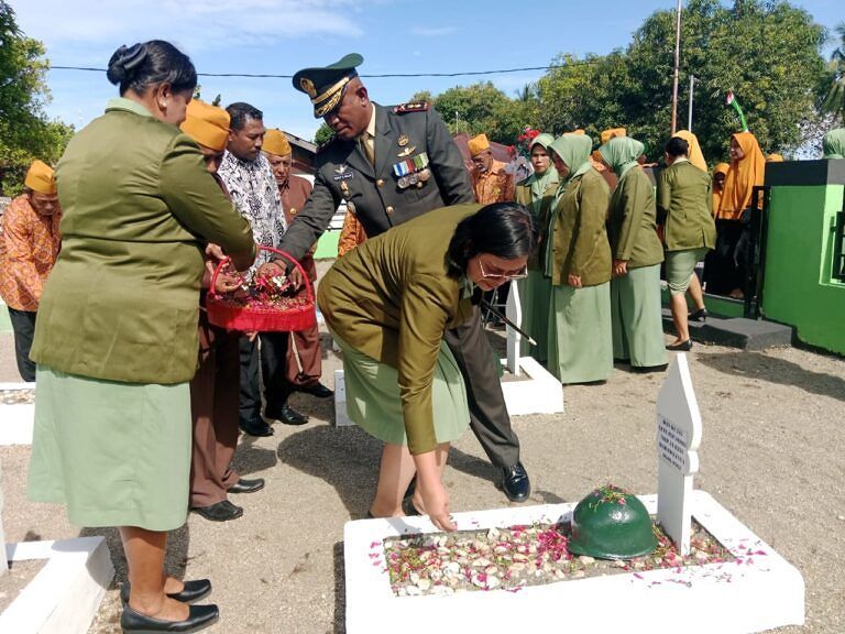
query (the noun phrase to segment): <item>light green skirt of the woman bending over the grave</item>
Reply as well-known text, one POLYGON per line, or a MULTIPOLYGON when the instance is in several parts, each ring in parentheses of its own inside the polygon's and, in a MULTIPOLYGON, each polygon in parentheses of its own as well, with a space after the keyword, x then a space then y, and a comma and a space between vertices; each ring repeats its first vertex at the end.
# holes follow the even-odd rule
MULTIPOLYGON (((407 445, 396 368, 364 354, 337 335, 332 336, 343 351, 347 415, 384 442, 407 445)), ((431 406, 438 444, 457 440, 467 431, 470 426, 467 389, 458 362, 445 342, 440 342, 435 368, 431 406)))

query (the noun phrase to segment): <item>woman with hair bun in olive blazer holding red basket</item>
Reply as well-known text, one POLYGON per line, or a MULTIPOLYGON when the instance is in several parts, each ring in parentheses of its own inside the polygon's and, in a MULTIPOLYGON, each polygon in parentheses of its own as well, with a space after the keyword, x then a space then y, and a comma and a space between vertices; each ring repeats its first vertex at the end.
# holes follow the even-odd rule
POLYGON ((245 269, 255 245, 178 130, 197 83, 190 59, 161 40, 121 46, 108 78, 120 98, 56 167, 63 245, 31 352, 29 494, 65 504, 74 524, 119 527, 123 632, 197 632, 218 609, 187 603, 211 584, 167 576, 164 558, 188 510, 204 250, 219 244, 245 269))

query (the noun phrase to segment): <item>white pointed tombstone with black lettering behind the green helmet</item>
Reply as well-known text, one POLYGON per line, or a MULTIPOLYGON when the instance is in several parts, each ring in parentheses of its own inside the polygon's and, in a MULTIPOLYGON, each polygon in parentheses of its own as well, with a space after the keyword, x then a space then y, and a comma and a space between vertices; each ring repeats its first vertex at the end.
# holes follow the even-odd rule
POLYGON ((678 354, 657 397, 657 518, 682 555, 690 551, 692 478, 699 471, 701 414, 687 356, 678 354))

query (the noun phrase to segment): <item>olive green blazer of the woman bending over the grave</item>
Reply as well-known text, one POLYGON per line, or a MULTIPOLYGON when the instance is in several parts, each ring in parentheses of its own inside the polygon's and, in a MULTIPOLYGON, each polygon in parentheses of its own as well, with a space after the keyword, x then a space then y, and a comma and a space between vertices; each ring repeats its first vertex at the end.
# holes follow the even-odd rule
POLYGON ((431 383, 440 341, 472 316, 460 280, 447 274, 458 222, 482 205, 445 207, 366 240, 320 280, 317 300, 332 332, 396 368, 411 453, 437 446, 431 383))

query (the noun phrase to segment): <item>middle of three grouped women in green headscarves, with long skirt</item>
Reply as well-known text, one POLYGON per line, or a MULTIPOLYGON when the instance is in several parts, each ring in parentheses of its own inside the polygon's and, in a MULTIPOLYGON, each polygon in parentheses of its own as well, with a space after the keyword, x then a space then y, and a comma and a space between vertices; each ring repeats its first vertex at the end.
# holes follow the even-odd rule
POLYGON ((610 188, 589 162, 589 136, 563 134, 551 149, 571 176, 558 188, 550 219, 548 369, 562 383, 605 381, 613 373, 611 248, 605 229, 610 188), (581 277, 581 288, 569 285, 569 274, 581 277))

